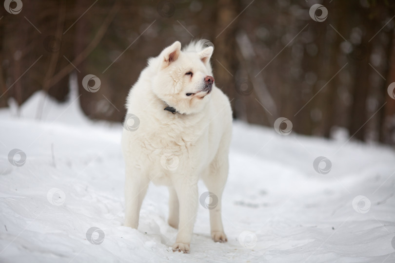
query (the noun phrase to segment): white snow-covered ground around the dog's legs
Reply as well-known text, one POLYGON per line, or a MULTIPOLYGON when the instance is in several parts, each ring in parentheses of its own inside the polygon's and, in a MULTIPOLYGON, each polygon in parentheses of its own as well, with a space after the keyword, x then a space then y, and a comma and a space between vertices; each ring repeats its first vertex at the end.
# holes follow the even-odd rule
POLYGON ((223 196, 228 243, 211 240, 199 206, 191 253, 173 253, 166 188, 150 187, 138 230, 122 226, 121 125, 86 119, 76 95, 46 98, 37 121, 41 99, 31 97, 20 117, 0 111, 0 262, 395 262, 390 147, 236 122, 223 196), (23 165, 18 154, 17 166, 9 162, 13 149, 26 154, 23 165), (328 173, 314 168, 318 156, 331 161, 328 173))

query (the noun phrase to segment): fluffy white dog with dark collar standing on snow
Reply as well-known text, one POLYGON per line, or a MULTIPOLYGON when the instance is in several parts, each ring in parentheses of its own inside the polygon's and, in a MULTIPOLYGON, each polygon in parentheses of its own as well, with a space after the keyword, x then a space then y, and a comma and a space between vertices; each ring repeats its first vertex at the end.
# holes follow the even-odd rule
POLYGON ((122 134, 126 164, 125 225, 137 228, 149 182, 169 188, 169 225, 178 228, 173 251, 189 252, 202 178, 217 206, 211 236, 226 242, 221 196, 228 175, 232 110, 214 85, 213 47, 176 41, 150 58, 127 98, 122 134))

